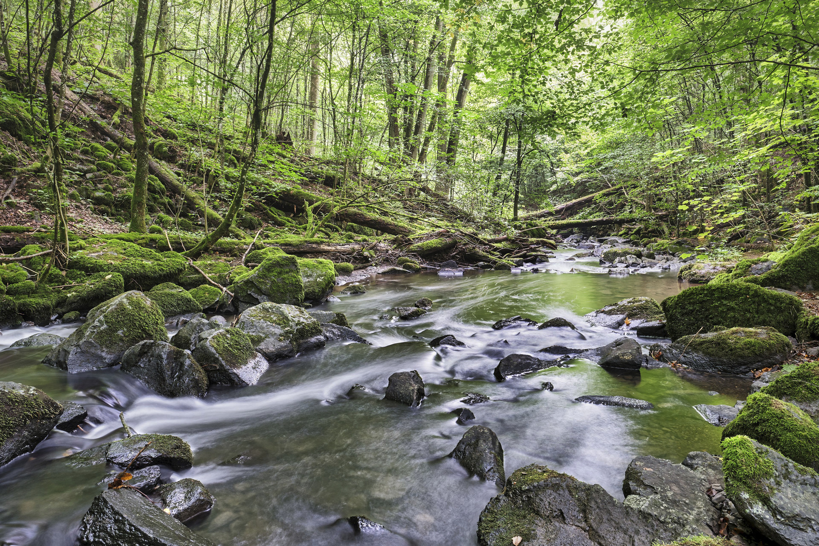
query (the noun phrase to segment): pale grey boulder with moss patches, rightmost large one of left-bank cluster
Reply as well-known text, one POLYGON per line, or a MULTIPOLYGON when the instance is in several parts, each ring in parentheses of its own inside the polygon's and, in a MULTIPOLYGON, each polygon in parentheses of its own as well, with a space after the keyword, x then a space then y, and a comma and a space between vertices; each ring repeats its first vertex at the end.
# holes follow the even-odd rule
POLYGON ((323 347, 326 336, 319 321, 295 305, 265 302, 246 309, 236 327, 269 360, 323 347))

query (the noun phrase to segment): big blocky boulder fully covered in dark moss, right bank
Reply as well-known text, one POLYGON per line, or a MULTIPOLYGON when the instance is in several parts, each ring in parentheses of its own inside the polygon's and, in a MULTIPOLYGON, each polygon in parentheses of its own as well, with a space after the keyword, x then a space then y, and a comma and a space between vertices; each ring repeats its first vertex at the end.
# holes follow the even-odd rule
POLYGON ((776 328, 793 336, 802 312, 796 296, 767 290, 747 282, 725 282, 690 287, 663 300, 666 329, 672 340, 715 326, 776 328))

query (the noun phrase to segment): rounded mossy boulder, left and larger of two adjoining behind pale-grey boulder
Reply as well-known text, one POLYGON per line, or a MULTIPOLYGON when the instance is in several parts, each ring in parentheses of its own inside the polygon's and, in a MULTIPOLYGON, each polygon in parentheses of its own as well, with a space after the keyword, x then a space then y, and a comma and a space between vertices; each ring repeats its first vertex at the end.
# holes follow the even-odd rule
POLYGON ((305 299, 301 269, 291 255, 268 256, 259 267, 237 278, 230 291, 240 312, 265 301, 301 305, 305 299))

